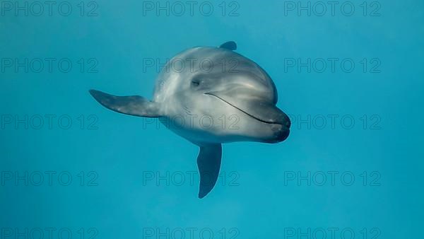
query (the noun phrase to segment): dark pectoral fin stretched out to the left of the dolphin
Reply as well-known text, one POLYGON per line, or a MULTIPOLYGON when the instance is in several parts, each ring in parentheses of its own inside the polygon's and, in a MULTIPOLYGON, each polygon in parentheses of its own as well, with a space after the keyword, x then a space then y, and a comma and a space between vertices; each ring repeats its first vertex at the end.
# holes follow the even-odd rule
POLYGON ((95 90, 90 90, 90 94, 98 103, 114 112, 140 117, 160 117, 158 103, 146 100, 139 95, 115 96, 95 90))

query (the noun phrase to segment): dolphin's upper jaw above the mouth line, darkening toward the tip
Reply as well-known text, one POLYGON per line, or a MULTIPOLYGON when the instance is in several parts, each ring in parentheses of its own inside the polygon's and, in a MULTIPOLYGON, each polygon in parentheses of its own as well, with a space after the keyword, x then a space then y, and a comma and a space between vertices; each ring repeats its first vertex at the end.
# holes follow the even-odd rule
POLYGON ((261 98, 257 96, 247 94, 230 94, 229 91, 213 91, 205 94, 213 95, 261 122, 267 124, 281 124, 282 127, 287 129, 290 128, 291 122, 288 115, 286 115, 273 103, 261 100, 261 98))

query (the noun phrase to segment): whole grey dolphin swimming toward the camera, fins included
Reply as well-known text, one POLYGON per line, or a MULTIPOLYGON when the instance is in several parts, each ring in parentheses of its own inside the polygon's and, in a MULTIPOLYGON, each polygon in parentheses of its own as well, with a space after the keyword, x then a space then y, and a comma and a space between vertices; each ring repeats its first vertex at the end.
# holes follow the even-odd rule
POLYGON ((276 107, 273 81, 235 49, 235 42, 225 42, 220 47, 194 47, 177 54, 156 79, 152 101, 138 95, 90 91, 110 110, 158 117, 172 132, 198 145, 199 198, 218 180, 221 144, 278 143, 290 132, 290 119, 276 107))

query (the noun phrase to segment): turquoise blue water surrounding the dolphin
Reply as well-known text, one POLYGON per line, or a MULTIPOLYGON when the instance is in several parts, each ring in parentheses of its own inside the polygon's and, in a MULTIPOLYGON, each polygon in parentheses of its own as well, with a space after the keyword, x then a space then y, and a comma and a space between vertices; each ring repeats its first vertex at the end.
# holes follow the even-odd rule
POLYGON ((1 1, 1 238, 419 238, 423 1, 156 3, 1 1), (197 146, 88 90, 151 98, 160 64, 229 40, 293 126, 223 145, 198 199, 197 146))

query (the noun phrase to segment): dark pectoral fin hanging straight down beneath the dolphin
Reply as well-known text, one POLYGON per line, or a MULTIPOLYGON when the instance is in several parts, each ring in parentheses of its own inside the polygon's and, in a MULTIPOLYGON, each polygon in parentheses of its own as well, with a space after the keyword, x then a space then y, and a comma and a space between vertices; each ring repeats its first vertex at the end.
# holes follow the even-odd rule
POLYGON ((200 174, 199 198, 204 198, 211 192, 218 180, 222 151, 221 144, 200 146, 199 156, 197 156, 200 174))

